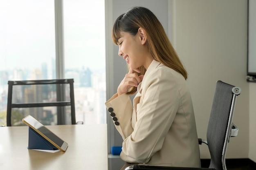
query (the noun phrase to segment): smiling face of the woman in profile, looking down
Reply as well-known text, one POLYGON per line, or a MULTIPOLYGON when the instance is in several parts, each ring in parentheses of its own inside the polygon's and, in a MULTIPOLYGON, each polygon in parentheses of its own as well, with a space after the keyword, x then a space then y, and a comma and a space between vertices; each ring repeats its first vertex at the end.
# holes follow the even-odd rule
POLYGON ((139 31, 135 36, 127 32, 122 32, 121 38, 117 41, 119 46, 118 55, 126 60, 132 70, 136 70, 140 66, 144 66, 147 69, 149 66, 147 64, 148 50, 146 45, 144 45, 145 43, 141 43, 141 41, 139 31))

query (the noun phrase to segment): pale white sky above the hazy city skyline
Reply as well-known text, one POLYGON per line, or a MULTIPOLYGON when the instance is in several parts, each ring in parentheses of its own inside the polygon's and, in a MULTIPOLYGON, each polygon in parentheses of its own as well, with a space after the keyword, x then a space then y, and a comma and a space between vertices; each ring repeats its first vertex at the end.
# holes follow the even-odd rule
MULTIPOLYGON (((0 0, 0 71, 51 65, 54 22, 53 0, 0 0)), ((63 0, 63 27, 65 68, 105 69, 104 0, 63 0)))

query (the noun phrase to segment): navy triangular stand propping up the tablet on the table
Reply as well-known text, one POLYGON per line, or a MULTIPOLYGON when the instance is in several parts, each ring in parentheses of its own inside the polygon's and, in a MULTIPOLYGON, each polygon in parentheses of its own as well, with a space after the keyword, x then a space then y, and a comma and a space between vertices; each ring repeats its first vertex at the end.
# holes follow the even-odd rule
POLYGON ((29 127, 28 149, 58 150, 53 144, 42 137, 38 132, 29 127))

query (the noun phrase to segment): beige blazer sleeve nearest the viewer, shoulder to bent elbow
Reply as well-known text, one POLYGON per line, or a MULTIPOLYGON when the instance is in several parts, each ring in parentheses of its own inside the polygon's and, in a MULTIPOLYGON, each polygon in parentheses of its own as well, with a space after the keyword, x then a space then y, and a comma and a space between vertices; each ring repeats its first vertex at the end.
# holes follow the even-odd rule
POLYGON ((158 70, 143 81, 137 122, 132 134, 124 140, 120 155, 130 163, 147 163, 152 155, 161 150, 181 100, 180 83, 172 72, 158 70))

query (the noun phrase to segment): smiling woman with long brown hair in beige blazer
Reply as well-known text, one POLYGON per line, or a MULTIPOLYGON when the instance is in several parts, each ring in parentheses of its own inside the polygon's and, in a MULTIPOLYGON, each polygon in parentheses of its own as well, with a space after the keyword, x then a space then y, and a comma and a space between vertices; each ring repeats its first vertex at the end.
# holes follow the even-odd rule
POLYGON ((123 168, 130 163, 200 167, 187 72, 162 24, 150 10, 134 7, 115 21, 112 40, 129 68, 105 103, 124 139, 123 168))

